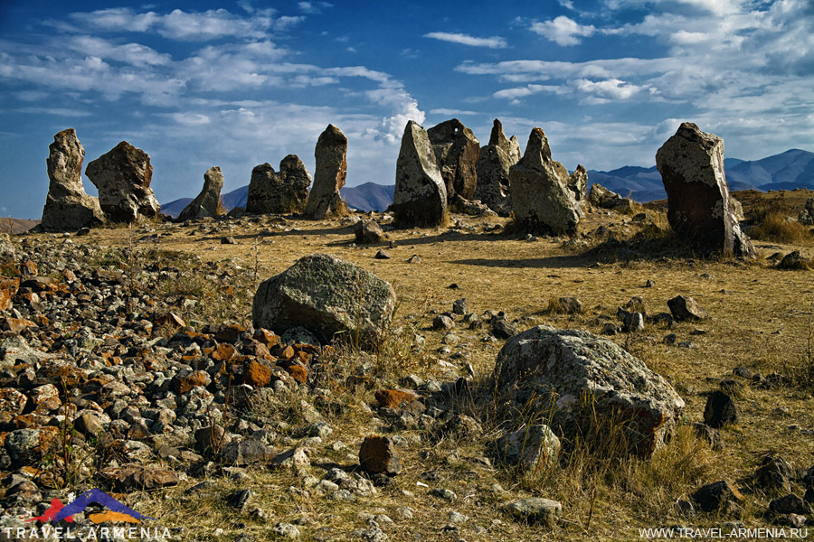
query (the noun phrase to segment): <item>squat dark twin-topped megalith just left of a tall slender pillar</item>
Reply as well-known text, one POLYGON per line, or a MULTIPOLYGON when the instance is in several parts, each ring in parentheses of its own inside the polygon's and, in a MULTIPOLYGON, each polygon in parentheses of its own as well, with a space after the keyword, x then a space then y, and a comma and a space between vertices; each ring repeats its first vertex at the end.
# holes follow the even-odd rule
POLYGON ((308 202, 311 174, 296 154, 279 163, 279 173, 271 164, 251 170, 246 210, 255 214, 302 212, 308 202))

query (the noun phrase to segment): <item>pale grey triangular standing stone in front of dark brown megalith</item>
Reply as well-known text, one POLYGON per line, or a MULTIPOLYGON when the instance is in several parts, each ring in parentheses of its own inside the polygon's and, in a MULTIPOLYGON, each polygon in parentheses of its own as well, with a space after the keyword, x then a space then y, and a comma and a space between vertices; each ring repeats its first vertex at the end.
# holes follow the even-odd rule
POLYGON ((405 227, 440 226, 447 220, 447 188, 426 130, 407 123, 396 162, 393 214, 405 227))

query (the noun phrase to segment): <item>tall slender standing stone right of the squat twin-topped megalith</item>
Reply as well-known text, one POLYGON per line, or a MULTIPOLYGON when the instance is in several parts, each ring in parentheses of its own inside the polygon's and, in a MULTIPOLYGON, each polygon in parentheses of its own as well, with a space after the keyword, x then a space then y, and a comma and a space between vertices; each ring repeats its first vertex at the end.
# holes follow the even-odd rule
POLYGON ((314 172, 314 187, 308 194, 306 216, 312 219, 344 217, 347 205, 339 195, 345 186, 347 175, 347 137, 342 130, 328 125, 319 135, 314 150, 317 170, 314 172))

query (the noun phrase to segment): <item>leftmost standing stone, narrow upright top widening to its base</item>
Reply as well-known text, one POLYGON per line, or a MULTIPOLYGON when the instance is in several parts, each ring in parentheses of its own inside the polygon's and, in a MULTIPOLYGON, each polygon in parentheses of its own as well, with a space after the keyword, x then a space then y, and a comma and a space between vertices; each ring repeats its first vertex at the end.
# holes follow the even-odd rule
POLYGON ((53 136, 48 147, 48 196, 43 208, 43 229, 80 229, 105 221, 99 200, 82 187, 82 162, 85 149, 68 128, 53 136))

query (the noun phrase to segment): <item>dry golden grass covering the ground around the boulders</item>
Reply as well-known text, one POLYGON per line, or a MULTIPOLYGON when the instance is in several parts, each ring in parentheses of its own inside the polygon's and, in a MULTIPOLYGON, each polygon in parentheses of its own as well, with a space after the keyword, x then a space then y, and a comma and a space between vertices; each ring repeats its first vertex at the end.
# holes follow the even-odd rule
MULTIPOLYGON (((753 202, 738 197, 749 215, 753 202)), ((651 231, 649 235, 657 239, 664 236, 664 230, 659 228, 663 213, 647 212, 651 216, 650 223, 655 222, 661 232, 651 231)), ((378 218, 383 220, 381 215, 378 218)), ((259 217, 204 220, 185 229, 159 226, 159 232, 169 234, 160 240, 162 250, 200 256, 206 266, 217 266, 219 261, 230 258, 244 268, 248 283, 255 266, 254 239, 265 229, 269 231, 260 234, 257 248, 260 279, 278 274, 299 257, 315 252, 335 254, 383 277, 393 285, 400 300, 392 331, 402 330, 384 333, 381 349, 368 354, 382 382, 395 384, 402 375, 411 372, 422 378, 440 378, 444 369, 439 366, 439 359, 457 365, 459 374, 466 374, 464 366, 471 363, 476 382, 481 385, 476 385, 469 395, 455 398, 454 408, 477 415, 485 436, 433 440, 421 427, 400 431, 411 443, 399 450, 404 472, 396 477, 392 488, 381 489, 376 498, 360 499, 357 503, 313 495, 306 498, 297 491, 289 491, 289 486, 303 489, 293 473, 258 471, 252 472, 251 489, 258 492, 258 505, 270 512, 268 521, 252 519, 247 512, 236 512, 222 504, 223 495, 246 487, 225 477, 218 479, 220 485, 211 491, 211 496, 185 495, 183 491, 194 481, 169 491, 166 498, 144 496, 146 513, 169 525, 183 523, 187 533, 199 539, 206 538, 210 528, 223 528, 232 537, 246 532, 266 539, 270 536, 270 524, 303 518, 302 530, 308 533, 305 539, 313 537, 319 527, 333 528, 336 539, 346 539, 352 528, 365 526, 360 512, 376 513, 375 510, 381 509, 397 521, 395 526, 383 527, 391 539, 414 539, 418 533, 423 539, 435 540, 447 537, 441 529, 448 523, 447 514, 454 509, 470 518, 460 526, 459 532, 459 537, 467 540, 629 540, 638 539, 639 527, 686 522, 672 509, 675 500, 686 498, 706 482, 724 478, 737 481, 751 475, 757 458, 766 453, 779 454, 797 468, 814 464, 814 436, 788 429, 789 425, 814 428, 811 392, 794 384, 794 381, 802 381, 804 375, 809 374, 805 371, 812 366, 809 322, 814 288, 810 271, 781 272, 762 259, 741 262, 734 258, 676 257, 670 256, 666 248, 658 258, 602 263, 587 252, 590 239, 578 238, 576 243, 563 248, 562 239, 540 238, 526 242, 525 238, 500 233, 506 219, 488 219, 484 223, 454 216, 453 222, 457 220, 459 226, 454 229, 390 231, 390 237, 398 246, 389 250, 392 255, 389 260, 374 259, 378 247, 351 246, 352 227, 338 220, 288 217, 279 225, 279 220, 259 217), (491 224, 497 224, 497 233, 492 231, 491 224), (220 245, 223 235, 233 236, 238 244, 220 245), (421 264, 407 263, 413 254, 421 257, 421 264), (651 287, 645 287, 648 279, 654 283, 651 287), (452 284, 459 285, 459 289, 450 289, 452 284), (454 332, 459 335, 461 345, 452 350, 462 350, 466 355, 460 359, 441 355, 436 350, 441 346, 442 335, 429 329, 432 310, 449 311, 455 299, 466 297, 471 311, 480 314, 488 309, 503 310, 510 320, 522 319, 525 327, 546 323, 558 328, 601 332, 604 322, 616 322, 616 308, 627 304, 631 297, 641 297, 648 313, 658 313, 666 312, 667 300, 677 294, 694 297, 711 318, 704 322, 678 323, 671 330, 648 324, 645 331, 635 337, 613 338, 645 361, 650 369, 667 378, 686 401, 685 426, 650 462, 618 457, 611 461, 590 447, 577 447, 582 451, 566 455, 557 470, 535 485, 518 480, 515 472, 478 463, 478 458, 488 453, 487 440, 507 428, 501 425, 506 420, 504 413, 488 400, 487 390, 483 388, 502 343, 481 341, 486 330, 469 330, 459 323, 454 332), (544 312, 551 301, 558 302, 561 295, 579 297, 584 312, 544 312), (420 353, 413 350, 414 332, 426 340, 420 353), (691 341, 695 348, 665 344, 662 340, 667 333, 676 333, 677 343, 691 341), (720 378, 733 378, 732 370, 741 366, 764 376, 773 371, 799 376, 788 385, 772 388, 753 388, 748 381, 741 380, 743 388, 737 400, 742 421, 722 432, 724 450, 712 452, 696 440, 689 426, 703 419, 703 394, 717 388, 720 378), (458 493, 459 500, 447 502, 427 495, 427 490, 417 485, 426 482, 421 473, 427 471, 439 473, 439 480, 432 481, 431 487, 447 487, 458 493), (490 486, 496 482, 508 493, 493 493, 490 486), (513 521, 499 512, 499 505, 507 500, 527 496, 563 502, 563 522, 554 528, 543 528, 513 521), (413 519, 399 519, 398 510, 402 506, 415 510, 413 519), (494 522, 495 519, 500 523, 494 522), (476 526, 487 530, 480 532, 476 526)), ((611 229, 620 239, 648 235, 649 228, 626 216, 592 213, 583 220, 580 229, 588 232, 600 226, 611 229)), ((128 247, 126 229, 94 230, 83 239, 82 242, 111 247, 114 256, 120 254, 116 250, 128 247)), ((806 256, 814 252, 810 236, 799 238, 794 244, 775 242, 783 245, 784 252, 795 248, 806 256)), ((758 243, 758 250, 761 257, 766 257, 777 248, 762 247, 758 243)), ((116 257, 110 259, 112 264, 116 257)), ((224 280, 242 284, 242 279, 235 276, 224 280)), ((250 287, 247 286, 245 292, 226 295, 217 281, 214 285, 212 304, 219 308, 206 310, 199 317, 203 321, 226 316, 248 321, 250 287)), ((206 306, 208 287, 204 284, 172 286, 166 294, 194 294, 203 299, 206 306), (181 286, 184 291, 177 289, 181 286)), ((351 343, 328 364, 333 372, 327 374, 324 381, 346 382, 348 371, 355 367, 357 360, 353 363, 345 360, 355 355, 351 343)), ((344 412, 327 414, 334 428, 329 442, 341 440, 349 450, 342 453, 315 450, 312 463, 338 463, 352 468, 354 459, 348 453, 357 452, 364 435, 381 431, 373 418, 362 414, 364 404, 374 403, 374 391, 364 384, 356 388, 330 388, 331 399, 347 408, 344 412), (327 463, 322 461, 323 456, 329 460, 327 463)), ((301 424, 297 405, 280 407, 267 416, 279 419, 291 416, 296 422, 294 425, 301 424)), ((524 416, 516 421, 544 417, 544 413, 524 416)), ((281 434, 281 438, 285 436, 289 435, 281 434)), ((277 447, 282 449, 283 445, 280 441, 277 447)), ((317 477, 324 470, 322 466, 312 467, 317 477)), ((742 513, 743 522, 747 526, 764 525, 766 519, 761 514, 768 502, 761 496, 750 499, 752 504, 742 513)), ((696 526, 720 526, 720 523, 721 519, 716 517, 700 516, 692 520, 696 526)))

